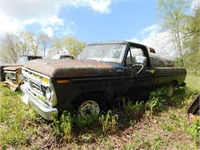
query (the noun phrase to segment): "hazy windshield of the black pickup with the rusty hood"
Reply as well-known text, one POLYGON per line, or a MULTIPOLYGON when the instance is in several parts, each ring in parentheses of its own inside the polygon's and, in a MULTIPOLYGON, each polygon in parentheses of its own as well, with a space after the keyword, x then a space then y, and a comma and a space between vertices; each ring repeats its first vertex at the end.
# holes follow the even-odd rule
POLYGON ((125 49, 126 44, 122 43, 89 45, 84 48, 78 59, 121 63, 125 49))

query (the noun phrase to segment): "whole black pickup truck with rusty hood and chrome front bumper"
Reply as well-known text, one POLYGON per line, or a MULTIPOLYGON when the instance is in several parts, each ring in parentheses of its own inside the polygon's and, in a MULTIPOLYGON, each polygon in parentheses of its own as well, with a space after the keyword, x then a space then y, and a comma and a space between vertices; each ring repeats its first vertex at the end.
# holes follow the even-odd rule
POLYGON ((184 85, 186 77, 185 68, 128 41, 89 44, 74 60, 33 60, 22 73, 22 101, 47 120, 71 106, 79 117, 99 114, 122 97, 141 100, 155 88, 184 85))

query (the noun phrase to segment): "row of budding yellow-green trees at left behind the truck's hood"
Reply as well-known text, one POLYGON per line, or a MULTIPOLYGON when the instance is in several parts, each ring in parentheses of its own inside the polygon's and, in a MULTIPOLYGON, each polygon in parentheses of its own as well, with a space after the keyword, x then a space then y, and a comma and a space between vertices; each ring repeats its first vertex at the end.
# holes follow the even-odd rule
POLYGON ((76 57, 86 45, 74 37, 50 38, 46 34, 35 35, 28 31, 7 34, 2 43, 0 60, 14 63, 20 55, 70 54, 76 57))

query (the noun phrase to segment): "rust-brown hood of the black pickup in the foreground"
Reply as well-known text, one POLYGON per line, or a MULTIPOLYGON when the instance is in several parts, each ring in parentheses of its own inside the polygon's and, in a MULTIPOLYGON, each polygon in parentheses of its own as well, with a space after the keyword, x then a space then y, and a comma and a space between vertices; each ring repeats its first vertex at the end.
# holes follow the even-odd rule
POLYGON ((24 67, 50 78, 75 78, 119 75, 122 71, 117 71, 118 65, 92 60, 41 59, 26 62, 24 67))

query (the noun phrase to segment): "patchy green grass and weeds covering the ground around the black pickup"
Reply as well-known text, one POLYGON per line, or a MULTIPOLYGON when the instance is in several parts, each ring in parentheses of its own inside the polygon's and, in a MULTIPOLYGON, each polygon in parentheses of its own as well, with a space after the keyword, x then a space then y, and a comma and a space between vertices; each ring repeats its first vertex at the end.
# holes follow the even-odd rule
POLYGON ((171 98, 159 89, 149 102, 127 102, 97 120, 78 120, 65 112, 53 122, 22 103, 21 92, 0 84, 0 149, 197 150, 199 122, 189 124, 186 109, 199 92, 199 81, 199 75, 189 73, 187 86, 176 89, 171 98))

